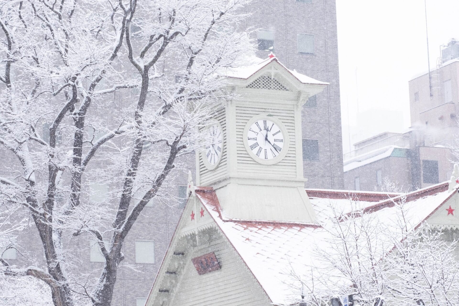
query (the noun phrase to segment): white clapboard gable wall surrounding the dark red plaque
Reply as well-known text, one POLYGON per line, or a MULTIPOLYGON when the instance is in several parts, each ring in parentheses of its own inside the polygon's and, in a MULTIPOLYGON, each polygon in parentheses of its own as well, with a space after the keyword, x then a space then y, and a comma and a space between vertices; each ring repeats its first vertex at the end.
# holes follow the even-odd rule
POLYGON ((183 278, 169 305, 270 305, 267 295, 220 230, 212 231, 213 235, 200 237, 202 245, 189 250, 183 278), (191 258, 210 252, 215 252, 221 269, 198 275, 191 258))

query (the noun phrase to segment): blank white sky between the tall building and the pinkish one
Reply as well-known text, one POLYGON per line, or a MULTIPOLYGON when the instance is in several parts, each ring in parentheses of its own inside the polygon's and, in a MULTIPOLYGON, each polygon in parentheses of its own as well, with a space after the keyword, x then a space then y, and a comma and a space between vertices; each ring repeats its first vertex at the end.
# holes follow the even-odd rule
MULTIPOLYGON (((433 69, 440 45, 453 37, 459 39, 459 0, 426 1, 433 69)), ((336 11, 343 149, 347 152, 347 125, 357 125, 357 112, 368 115, 358 127, 367 133, 397 132, 410 126, 408 81, 427 72, 425 11, 424 0, 336 0, 336 11), (381 113, 387 111, 378 109, 398 111, 396 117, 403 117, 403 122, 390 117, 381 122, 381 113), (372 119, 379 122, 377 126, 371 124, 372 119)), ((359 140, 355 129, 350 134, 359 140)))

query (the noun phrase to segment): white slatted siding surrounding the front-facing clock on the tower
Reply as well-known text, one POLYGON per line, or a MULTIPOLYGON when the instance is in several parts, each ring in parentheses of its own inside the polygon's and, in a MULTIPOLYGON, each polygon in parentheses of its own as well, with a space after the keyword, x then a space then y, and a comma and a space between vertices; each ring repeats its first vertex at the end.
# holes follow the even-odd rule
POLYGON ((280 177, 296 177, 297 175, 297 159, 296 159, 296 141, 295 141, 295 113, 293 106, 282 107, 276 106, 276 109, 265 108, 262 106, 247 106, 248 103, 236 104, 236 134, 237 134, 237 162, 238 172, 243 174, 274 174, 280 177), (285 126, 289 137, 289 148, 284 159, 274 165, 266 167, 254 161, 253 158, 247 153, 244 146, 244 128, 247 122, 254 116, 259 114, 269 113, 274 118, 280 120, 285 126))

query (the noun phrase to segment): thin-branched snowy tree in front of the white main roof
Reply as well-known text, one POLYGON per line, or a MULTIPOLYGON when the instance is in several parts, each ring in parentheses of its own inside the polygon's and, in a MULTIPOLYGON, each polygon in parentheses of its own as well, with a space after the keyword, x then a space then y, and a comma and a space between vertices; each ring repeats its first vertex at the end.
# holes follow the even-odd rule
POLYGON ((321 218, 327 235, 311 246, 313 266, 290 271, 292 289, 301 290, 307 305, 327 305, 345 295, 353 295, 354 306, 374 306, 377 300, 458 305, 457 241, 443 239, 444 230, 428 224, 418 228, 405 197, 392 204, 392 214, 381 220, 352 197, 345 207, 330 200, 321 218))

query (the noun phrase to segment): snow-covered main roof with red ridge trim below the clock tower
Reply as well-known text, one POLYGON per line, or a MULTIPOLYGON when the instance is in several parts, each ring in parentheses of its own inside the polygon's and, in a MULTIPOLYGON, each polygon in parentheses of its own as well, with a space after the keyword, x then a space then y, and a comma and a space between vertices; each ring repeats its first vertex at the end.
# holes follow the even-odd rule
MULTIPOLYGON (((330 201, 343 212, 351 210, 349 199, 358 200, 364 211, 369 211, 381 222, 395 223, 397 206, 394 200, 406 197, 409 212, 405 217, 417 228, 455 192, 459 185, 448 191, 448 183, 442 183, 400 195, 396 193, 358 193, 323 189, 308 189, 310 200, 321 224, 326 223, 330 201)), ((274 305, 289 305, 292 296, 291 274, 314 267, 313 249, 324 247, 330 233, 320 225, 307 223, 284 223, 254 220, 231 220, 224 217, 217 195, 212 188, 197 187, 196 195, 207 209, 231 245, 239 253, 249 270, 262 286, 274 305)), ((394 224, 396 226, 396 224, 394 224)), ((396 237, 397 238, 397 237, 396 237)), ((400 237, 402 238, 402 237, 400 237)), ((297 297, 297 296, 296 296, 297 297)))

